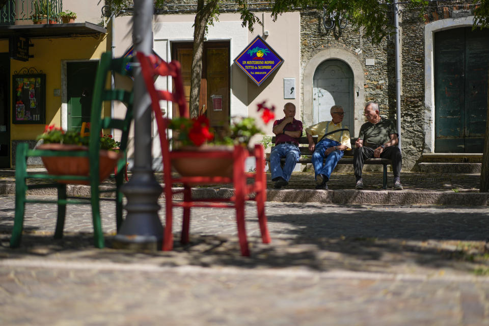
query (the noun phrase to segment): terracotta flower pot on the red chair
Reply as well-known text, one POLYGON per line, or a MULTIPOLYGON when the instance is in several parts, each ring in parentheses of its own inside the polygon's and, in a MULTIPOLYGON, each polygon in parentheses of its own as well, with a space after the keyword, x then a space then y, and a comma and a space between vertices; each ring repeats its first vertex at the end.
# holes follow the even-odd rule
MULTIPOLYGON (((205 146, 180 148, 179 152, 211 152, 226 151, 233 152, 232 147, 228 146, 205 146)), ((185 177, 232 177, 233 176, 233 159, 222 157, 180 157, 172 159, 172 167, 182 176, 185 177)))

